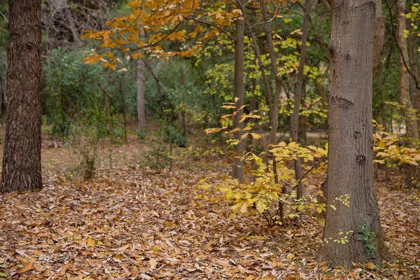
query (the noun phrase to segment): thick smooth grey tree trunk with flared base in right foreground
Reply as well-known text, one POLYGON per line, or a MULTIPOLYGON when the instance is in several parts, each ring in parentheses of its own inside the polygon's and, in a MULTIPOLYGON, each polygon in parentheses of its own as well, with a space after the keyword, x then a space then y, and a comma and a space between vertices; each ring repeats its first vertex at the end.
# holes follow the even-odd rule
POLYGON ((328 189, 320 261, 351 267, 352 262, 388 258, 374 188, 372 139, 372 64, 374 1, 330 1, 330 85, 328 189), (349 207, 335 197, 349 195, 349 207), (374 232, 369 252, 360 227, 374 232), (349 243, 337 244, 340 231, 349 243), (328 243, 327 243, 328 241, 328 243))

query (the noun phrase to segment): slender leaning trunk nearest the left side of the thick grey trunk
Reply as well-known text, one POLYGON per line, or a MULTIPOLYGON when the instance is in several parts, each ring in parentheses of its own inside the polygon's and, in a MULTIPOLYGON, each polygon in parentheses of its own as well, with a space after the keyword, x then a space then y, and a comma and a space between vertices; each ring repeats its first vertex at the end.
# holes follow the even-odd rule
MULTIPOLYGON (((299 112, 300 112, 300 102, 302 99, 302 87, 303 87, 303 69, 304 69, 304 60, 306 57, 306 43, 308 37, 308 25, 309 25, 309 13, 311 12, 311 0, 306 0, 304 4, 304 20, 303 20, 303 29, 302 29, 302 45, 300 46, 300 61, 299 69, 297 69, 296 77, 296 93, 295 93, 295 106, 293 109, 292 120, 290 124, 290 134, 292 141, 299 143, 299 112)), ((295 177, 296 181, 302 179, 302 165, 300 163, 300 158, 295 160, 295 177)), ((296 199, 298 201, 302 200, 303 197, 303 185, 300 182, 296 188, 296 199)))

